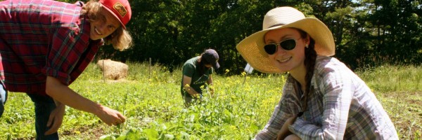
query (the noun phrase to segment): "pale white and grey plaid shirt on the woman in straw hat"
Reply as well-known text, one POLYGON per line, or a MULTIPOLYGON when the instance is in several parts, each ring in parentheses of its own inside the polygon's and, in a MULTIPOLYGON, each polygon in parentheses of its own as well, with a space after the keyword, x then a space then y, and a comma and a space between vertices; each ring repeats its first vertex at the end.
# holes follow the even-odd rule
MULTIPOLYGON (((275 139, 286 120, 302 111, 297 83, 288 76, 279 105, 255 139, 275 139)), ((289 127, 301 139, 398 139, 373 92, 338 59, 318 56, 311 85, 307 110, 289 127)))

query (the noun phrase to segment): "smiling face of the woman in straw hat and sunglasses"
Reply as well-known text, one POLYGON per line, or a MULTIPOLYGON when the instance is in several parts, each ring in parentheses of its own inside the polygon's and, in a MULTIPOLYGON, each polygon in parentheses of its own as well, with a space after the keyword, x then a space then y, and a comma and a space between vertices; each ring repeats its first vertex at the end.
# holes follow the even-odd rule
POLYGON ((296 46, 292 50, 285 50, 277 44, 276 52, 268 55, 274 66, 282 72, 302 71, 305 69, 305 45, 309 39, 301 38, 297 29, 283 28, 268 31, 264 36, 265 44, 280 43, 288 39, 294 39, 296 46))

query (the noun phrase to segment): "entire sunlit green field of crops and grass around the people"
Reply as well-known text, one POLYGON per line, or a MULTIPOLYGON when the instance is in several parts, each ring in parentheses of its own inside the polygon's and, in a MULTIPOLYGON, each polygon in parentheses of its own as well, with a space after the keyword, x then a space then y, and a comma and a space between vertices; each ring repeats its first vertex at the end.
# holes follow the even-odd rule
MULTIPOLYGON (((246 76, 219 69, 215 97, 184 109, 181 71, 129 64, 124 80, 103 80, 91 64, 70 87, 94 102, 124 113, 127 122, 109 127, 93 114, 66 108, 60 139, 252 139, 281 98, 283 75, 246 76), (150 70, 151 69, 151 70, 150 70), (229 73, 229 74, 228 74, 229 73), (230 75, 230 76, 229 76, 230 75)), ((381 66, 357 71, 395 124, 400 139, 422 139, 422 67, 381 66)), ((0 118, 1 139, 34 139, 34 106, 23 93, 9 92, 0 118)))

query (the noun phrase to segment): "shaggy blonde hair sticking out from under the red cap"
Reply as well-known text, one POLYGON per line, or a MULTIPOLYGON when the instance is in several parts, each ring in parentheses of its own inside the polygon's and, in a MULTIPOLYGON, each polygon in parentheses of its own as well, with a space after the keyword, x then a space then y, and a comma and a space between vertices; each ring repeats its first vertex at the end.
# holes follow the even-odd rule
MULTIPOLYGON (((97 0, 90 0, 84 6, 82 6, 82 15, 87 15, 89 22, 94 22, 98 19, 98 14, 101 13, 103 6, 97 0)), ((105 43, 113 44, 113 48, 116 50, 125 50, 132 46, 132 36, 129 31, 123 29, 122 26, 118 27, 110 36, 103 38, 105 43)))

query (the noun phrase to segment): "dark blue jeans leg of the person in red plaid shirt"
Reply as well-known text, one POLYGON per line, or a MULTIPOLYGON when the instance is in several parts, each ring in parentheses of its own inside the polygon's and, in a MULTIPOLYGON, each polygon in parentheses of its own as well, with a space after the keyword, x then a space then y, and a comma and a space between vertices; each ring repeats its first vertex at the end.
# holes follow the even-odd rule
POLYGON ((37 140, 39 139, 58 139, 58 133, 44 135, 50 129, 47 127, 49 116, 56 104, 51 97, 39 94, 27 94, 35 105, 35 131, 37 132, 37 140))

